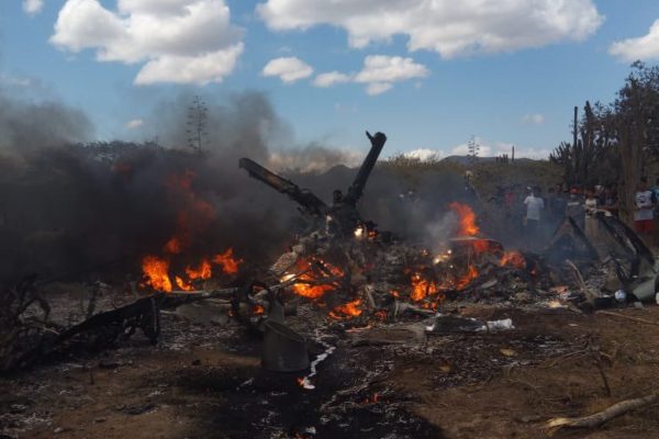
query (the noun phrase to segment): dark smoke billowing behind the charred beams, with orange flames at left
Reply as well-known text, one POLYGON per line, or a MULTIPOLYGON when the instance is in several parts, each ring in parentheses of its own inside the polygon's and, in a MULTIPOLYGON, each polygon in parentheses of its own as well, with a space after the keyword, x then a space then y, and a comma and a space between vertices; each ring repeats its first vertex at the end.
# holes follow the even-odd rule
MULTIPOLYGON (((0 281, 144 272, 134 280, 170 291, 211 275, 235 279, 271 262, 301 230, 295 204, 249 179, 238 158, 327 202, 355 176, 344 165, 359 161, 354 153, 291 145, 290 130, 257 92, 210 104, 203 153, 188 150, 189 98, 158 106, 163 146, 90 143, 81 111, 0 91, 0 281)), ((431 244, 449 236, 456 219, 446 218, 447 205, 465 196, 459 177, 423 176, 412 193, 387 167, 376 168, 366 192, 364 217, 431 244)))

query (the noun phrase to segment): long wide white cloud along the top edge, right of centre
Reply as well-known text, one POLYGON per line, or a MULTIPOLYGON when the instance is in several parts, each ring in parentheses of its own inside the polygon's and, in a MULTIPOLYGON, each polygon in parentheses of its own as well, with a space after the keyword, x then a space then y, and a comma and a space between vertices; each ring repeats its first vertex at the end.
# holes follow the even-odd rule
POLYGON ((583 41, 604 21, 592 0, 267 0, 257 12, 276 31, 331 24, 351 47, 406 35, 445 58, 583 41))

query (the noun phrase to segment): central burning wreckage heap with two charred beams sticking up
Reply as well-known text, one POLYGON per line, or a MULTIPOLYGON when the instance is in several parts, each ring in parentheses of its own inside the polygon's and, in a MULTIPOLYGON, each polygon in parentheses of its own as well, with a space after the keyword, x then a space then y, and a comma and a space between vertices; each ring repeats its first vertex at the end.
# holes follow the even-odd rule
POLYGON ((241 161, 253 177, 297 201, 316 227, 269 269, 271 283, 291 282, 288 291, 293 296, 311 300, 330 319, 362 325, 403 315, 428 316, 446 300, 481 300, 492 290, 510 300, 516 290, 511 282, 526 290, 548 282, 539 258, 504 251, 500 243, 480 237, 468 204, 448 205, 454 238, 435 252, 362 219, 356 203, 386 140, 381 133, 368 136, 371 151, 347 195, 334 192, 331 207, 255 162, 241 161))

